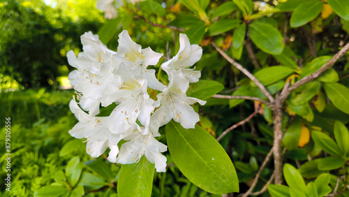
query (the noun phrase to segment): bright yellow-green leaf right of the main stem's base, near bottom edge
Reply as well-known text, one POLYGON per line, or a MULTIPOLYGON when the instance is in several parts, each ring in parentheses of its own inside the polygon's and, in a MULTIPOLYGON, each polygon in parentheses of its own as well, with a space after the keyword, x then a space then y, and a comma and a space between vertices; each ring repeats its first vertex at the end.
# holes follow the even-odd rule
POLYGON ((303 177, 295 167, 288 163, 285 163, 285 165, 283 165, 283 176, 285 177, 285 180, 290 188, 305 191, 306 185, 303 177))

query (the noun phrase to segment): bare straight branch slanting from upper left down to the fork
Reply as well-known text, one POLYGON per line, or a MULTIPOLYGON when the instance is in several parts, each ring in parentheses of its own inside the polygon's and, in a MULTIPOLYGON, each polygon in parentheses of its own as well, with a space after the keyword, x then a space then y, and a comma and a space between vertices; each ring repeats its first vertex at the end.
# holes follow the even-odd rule
POLYGON ((214 46, 214 48, 216 48, 216 50, 227 60, 230 62, 230 64, 234 65, 237 69, 239 69, 240 71, 242 71, 242 73, 244 73, 248 78, 250 78, 253 82, 255 82, 255 85, 257 85, 260 90, 262 90, 262 92, 265 94, 265 96, 267 96, 267 98, 269 99, 269 101, 274 101, 274 98, 272 96, 272 94, 270 94, 267 89, 265 89, 264 85, 262 85, 262 83, 255 78, 254 75, 252 75, 250 72, 248 72, 241 64, 237 63, 236 61, 234 61, 232 58, 230 58, 228 56, 228 54, 226 54, 225 52, 223 52, 223 50, 221 50, 221 48, 218 48, 218 46, 212 42, 211 43, 212 46, 214 46))

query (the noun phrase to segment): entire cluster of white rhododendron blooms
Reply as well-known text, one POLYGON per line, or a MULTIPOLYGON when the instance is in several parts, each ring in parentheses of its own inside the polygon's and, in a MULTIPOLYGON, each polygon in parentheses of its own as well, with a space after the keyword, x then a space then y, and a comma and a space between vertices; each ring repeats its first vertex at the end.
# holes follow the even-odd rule
POLYGON ((191 104, 206 101, 186 96, 189 82, 197 82, 200 71, 188 69, 202 56, 202 48, 191 45, 180 34, 179 52, 161 65, 169 84, 156 79, 156 65, 163 56, 151 48, 142 49, 127 31, 119 34, 117 52, 109 50, 91 32, 81 36, 83 52, 68 52, 68 62, 77 68, 68 79, 78 92, 77 101, 70 101, 70 110, 78 123, 69 131, 75 138, 87 138, 87 153, 98 157, 109 147, 107 159, 121 164, 135 163, 144 155, 155 163, 156 171, 164 172, 167 146, 158 142, 158 129, 171 119, 186 129, 194 128, 199 115, 191 104), (160 92, 151 99, 148 91, 160 92), (109 117, 98 117, 100 105, 116 103, 109 117), (126 140, 119 149, 120 140, 126 140))

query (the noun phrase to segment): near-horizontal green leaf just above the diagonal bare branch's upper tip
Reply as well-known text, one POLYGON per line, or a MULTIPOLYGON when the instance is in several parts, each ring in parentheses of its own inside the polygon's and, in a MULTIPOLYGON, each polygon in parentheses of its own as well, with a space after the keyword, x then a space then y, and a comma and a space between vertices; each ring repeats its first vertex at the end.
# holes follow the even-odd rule
POLYGON ((240 21, 236 19, 223 19, 218 20, 214 24, 211 24, 209 27, 209 36, 216 36, 218 34, 222 34, 225 31, 229 31, 234 29, 239 25, 240 21))

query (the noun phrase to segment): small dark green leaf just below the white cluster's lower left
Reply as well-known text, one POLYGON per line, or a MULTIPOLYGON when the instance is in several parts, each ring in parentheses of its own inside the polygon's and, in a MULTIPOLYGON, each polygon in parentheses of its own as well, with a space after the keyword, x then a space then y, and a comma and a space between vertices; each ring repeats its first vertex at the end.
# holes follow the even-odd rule
POLYGON ((84 164, 89 166, 94 172, 101 177, 105 178, 107 181, 111 181, 114 178, 112 170, 110 170, 110 165, 107 164, 106 161, 101 159, 91 159, 89 161, 85 161, 84 164))

